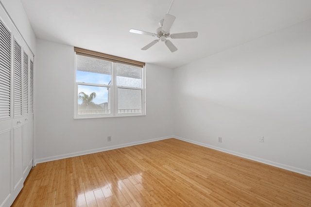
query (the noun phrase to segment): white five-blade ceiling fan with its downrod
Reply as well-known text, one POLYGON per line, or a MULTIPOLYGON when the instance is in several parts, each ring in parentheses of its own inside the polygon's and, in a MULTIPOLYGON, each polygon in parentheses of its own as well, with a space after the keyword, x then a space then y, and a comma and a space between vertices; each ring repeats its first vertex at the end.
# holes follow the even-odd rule
POLYGON ((177 48, 167 38, 172 38, 172 39, 197 38, 198 32, 183 32, 183 33, 173 33, 173 34, 170 33, 171 27, 176 18, 175 16, 169 14, 172 4, 173 4, 173 0, 164 19, 162 19, 159 22, 160 27, 156 29, 156 33, 145 32, 145 31, 135 30, 135 29, 130 30, 130 32, 132 33, 145 34, 145 35, 150 35, 150 36, 154 36, 158 38, 152 41, 151 43, 149 43, 148 45, 146 45, 145 47, 141 48, 142 50, 147 50, 151 48, 152 46, 154 46, 155 43, 161 41, 165 43, 165 45, 171 50, 171 52, 175 52, 177 48))

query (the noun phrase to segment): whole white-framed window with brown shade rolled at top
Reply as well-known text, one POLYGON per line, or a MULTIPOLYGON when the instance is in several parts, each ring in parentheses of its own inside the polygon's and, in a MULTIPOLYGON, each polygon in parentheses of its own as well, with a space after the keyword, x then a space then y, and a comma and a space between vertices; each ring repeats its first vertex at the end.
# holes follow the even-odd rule
POLYGON ((75 118, 145 114, 144 63, 75 49, 75 118))

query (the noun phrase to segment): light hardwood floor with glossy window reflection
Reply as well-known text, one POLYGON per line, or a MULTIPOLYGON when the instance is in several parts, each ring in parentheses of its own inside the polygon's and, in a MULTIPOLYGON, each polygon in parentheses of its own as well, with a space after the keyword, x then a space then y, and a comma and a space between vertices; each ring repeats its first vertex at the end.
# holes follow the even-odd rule
POLYGON ((37 164, 21 206, 311 207, 311 177, 168 139, 37 164))

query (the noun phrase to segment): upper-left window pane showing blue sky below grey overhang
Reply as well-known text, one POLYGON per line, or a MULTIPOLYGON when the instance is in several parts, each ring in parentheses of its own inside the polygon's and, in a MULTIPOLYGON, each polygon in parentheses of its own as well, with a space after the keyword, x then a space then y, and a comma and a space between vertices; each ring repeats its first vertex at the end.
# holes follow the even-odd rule
POLYGON ((76 81, 110 85, 111 62, 77 55, 76 81))

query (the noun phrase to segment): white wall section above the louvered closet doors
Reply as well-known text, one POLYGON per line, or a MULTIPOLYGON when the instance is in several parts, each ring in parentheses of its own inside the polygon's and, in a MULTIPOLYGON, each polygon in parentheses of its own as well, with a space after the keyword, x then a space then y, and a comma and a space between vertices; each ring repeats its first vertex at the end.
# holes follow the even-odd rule
POLYGON ((30 25, 24 7, 20 0, 0 0, 6 12, 21 33, 28 47, 35 54, 35 33, 30 25))

